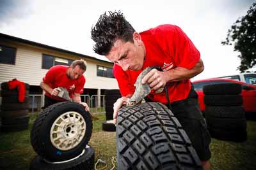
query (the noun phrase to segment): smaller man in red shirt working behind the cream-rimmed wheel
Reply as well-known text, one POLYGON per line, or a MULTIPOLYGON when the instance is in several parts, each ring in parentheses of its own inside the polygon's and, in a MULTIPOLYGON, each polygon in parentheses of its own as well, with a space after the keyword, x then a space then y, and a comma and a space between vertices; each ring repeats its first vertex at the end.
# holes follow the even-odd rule
POLYGON ((90 111, 88 104, 81 102, 80 94, 83 93, 86 71, 86 62, 84 60, 74 60, 71 66, 57 65, 51 67, 45 74, 40 87, 45 91, 44 108, 51 104, 66 101, 58 97, 58 87, 65 87, 68 94, 74 102, 84 106, 85 111, 90 111))

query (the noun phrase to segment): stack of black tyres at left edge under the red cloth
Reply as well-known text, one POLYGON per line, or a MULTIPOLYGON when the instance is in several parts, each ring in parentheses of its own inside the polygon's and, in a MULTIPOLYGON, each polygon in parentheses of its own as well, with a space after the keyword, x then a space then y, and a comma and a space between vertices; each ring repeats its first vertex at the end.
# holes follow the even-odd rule
POLYGON ((1 132, 18 132, 28 129, 29 85, 25 83, 26 96, 19 102, 18 88, 9 89, 8 82, 1 83, 1 132))

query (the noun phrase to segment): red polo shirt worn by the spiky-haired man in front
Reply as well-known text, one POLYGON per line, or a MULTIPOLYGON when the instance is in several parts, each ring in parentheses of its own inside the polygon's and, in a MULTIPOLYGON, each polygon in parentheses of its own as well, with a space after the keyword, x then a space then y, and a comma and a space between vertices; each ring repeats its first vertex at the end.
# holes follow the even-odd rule
MULTIPOLYGON (((192 69, 200 59, 200 52, 180 27, 159 25, 140 32, 140 35, 146 48, 143 68, 140 71, 123 71, 117 64, 113 67, 113 74, 118 81, 122 96, 134 93, 136 79, 146 67, 159 66, 163 71, 169 71, 175 67, 192 69)), ((168 92, 171 103, 186 99, 190 89, 190 80, 169 83, 168 92)), ((148 98, 155 102, 167 103, 164 90, 159 94, 152 90, 148 98)))

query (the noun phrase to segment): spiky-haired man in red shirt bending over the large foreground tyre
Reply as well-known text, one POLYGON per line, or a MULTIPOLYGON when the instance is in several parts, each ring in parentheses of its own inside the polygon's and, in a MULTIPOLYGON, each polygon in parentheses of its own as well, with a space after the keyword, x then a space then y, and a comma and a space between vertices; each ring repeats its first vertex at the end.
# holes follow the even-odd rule
POLYGON ((211 137, 198 106, 190 78, 204 70, 200 52, 176 25, 159 25, 136 32, 124 15, 104 13, 92 28, 93 50, 114 62, 113 74, 118 81, 122 98, 114 104, 114 122, 120 107, 134 93, 138 75, 149 66, 152 69, 142 80, 152 88, 149 101, 168 104, 163 87, 168 85, 171 110, 189 136, 204 169, 210 169, 211 137))

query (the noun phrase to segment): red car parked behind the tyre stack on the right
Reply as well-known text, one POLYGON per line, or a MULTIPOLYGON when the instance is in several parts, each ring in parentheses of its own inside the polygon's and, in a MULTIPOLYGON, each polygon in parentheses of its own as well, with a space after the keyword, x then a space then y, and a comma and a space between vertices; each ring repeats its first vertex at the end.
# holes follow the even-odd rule
POLYGON ((192 82, 198 94, 198 100, 201 111, 204 111, 204 85, 220 84, 220 83, 237 83, 242 86, 243 107, 246 113, 256 113, 256 85, 244 83, 241 81, 224 79, 224 78, 211 78, 205 80, 196 80, 192 82))

